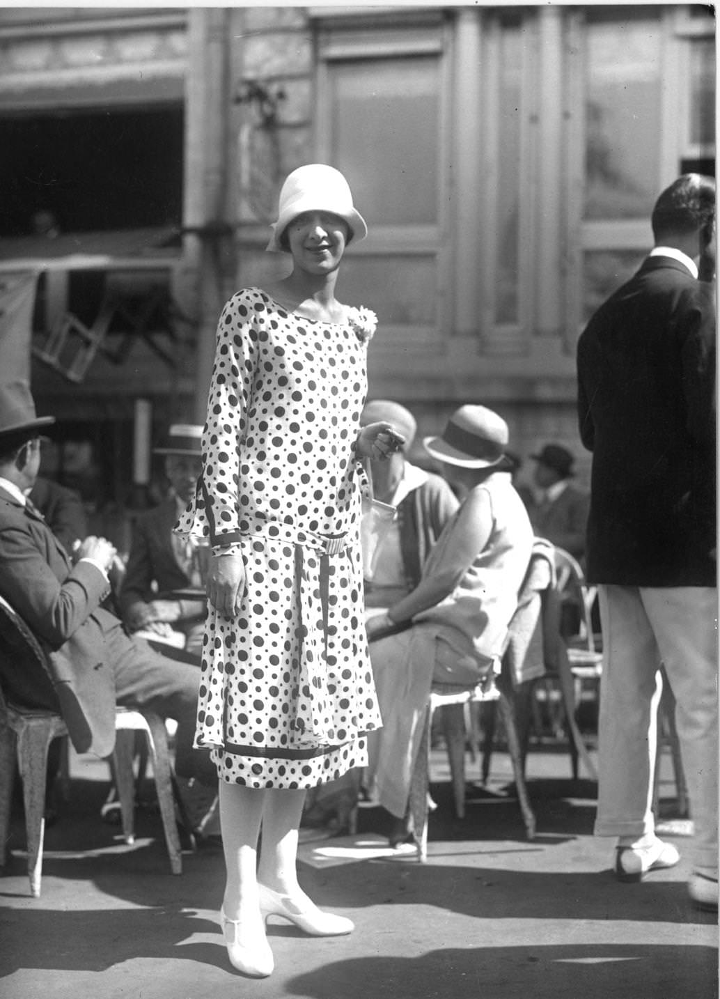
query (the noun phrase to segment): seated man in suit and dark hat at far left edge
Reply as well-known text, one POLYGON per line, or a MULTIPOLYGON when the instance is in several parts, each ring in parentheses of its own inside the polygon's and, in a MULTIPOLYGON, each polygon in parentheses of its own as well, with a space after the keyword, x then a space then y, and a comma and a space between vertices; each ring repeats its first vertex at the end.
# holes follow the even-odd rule
POLYGON ((62 714, 78 752, 108 756, 116 705, 147 707, 178 723, 176 772, 192 826, 200 827, 216 797, 217 771, 193 748, 198 671, 127 635, 102 606, 110 591, 115 548, 86 537, 73 557, 27 500, 40 466, 40 435, 54 417, 37 418, 24 382, 0 386, 0 594, 26 621, 48 654, 50 674, 19 672, 0 656, 11 699, 62 714))

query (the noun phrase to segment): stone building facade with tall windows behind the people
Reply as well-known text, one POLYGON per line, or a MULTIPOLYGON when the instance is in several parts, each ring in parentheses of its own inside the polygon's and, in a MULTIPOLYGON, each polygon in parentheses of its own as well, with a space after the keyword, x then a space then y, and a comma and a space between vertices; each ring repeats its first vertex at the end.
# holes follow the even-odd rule
MULTIPOLYGON (((40 400, 75 428, 121 414, 132 434, 138 401, 152 406, 153 434, 201 419, 224 301, 287 267, 264 250, 282 180, 328 162, 369 226, 339 293, 379 319, 370 394, 408 406, 420 435, 483 403, 507 419, 521 457, 556 441, 584 477, 577 336, 651 245, 662 187, 714 172, 714 45, 701 5, 0 12, 0 138, 33 115, 56 127, 109 114, 139 159, 123 159, 93 120, 105 165, 122 160, 108 189, 134 171, 148 178, 106 213, 109 271, 122 285, 128 254, 165 268, 172 303, 168 330, 146 328, 132 349, 126 336, 123 363, 99 352, 81 385, 36 357, 40 400), (163 174, 178 142, 180 176, 163 174)), ((18 260, 13 225, 0 213, 0 269, 18 260)), ((92 250, 87 230, 75 235, 92 250)), ((68 273, 57 260, 45 270, 46 312, 67 306, 68 273)))

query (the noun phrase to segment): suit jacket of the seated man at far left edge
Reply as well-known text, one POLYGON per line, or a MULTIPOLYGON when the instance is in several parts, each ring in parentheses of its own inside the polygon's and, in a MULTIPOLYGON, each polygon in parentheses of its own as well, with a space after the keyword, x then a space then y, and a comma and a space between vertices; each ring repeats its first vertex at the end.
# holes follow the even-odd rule
POLYGON ((30 706, 60 711, 78 752, 108 755, 115 741, 115 682, 106 634, 120 621, 100 606, 109 592, 89 561, 72 565, 42 517, 26 513, 0 488, 0 593, 49 655, 52 683, 38 666, 13 670, 0 660, 3 686, 30 706))

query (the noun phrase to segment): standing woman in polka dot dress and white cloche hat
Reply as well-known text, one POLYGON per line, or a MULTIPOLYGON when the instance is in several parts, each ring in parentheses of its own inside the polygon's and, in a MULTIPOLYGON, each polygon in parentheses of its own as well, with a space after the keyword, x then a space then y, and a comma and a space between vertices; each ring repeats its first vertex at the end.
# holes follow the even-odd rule
POLYGON ((196 744, 211 747, 221 777, 228 953, 257 977, 273 970, 268 915, 313 935, 353 929, 303 892, 296 854, 307 789, 364 766, 364 735, 381 724, 359 460, 398 438, 389 424, 360 431, 374 316, 335 296, 346 245, 365 235, 337 170, 288 177, 268 249, 290 253, 293 270, 223 311, 204 471, 177 527, 213 545, 196 744))

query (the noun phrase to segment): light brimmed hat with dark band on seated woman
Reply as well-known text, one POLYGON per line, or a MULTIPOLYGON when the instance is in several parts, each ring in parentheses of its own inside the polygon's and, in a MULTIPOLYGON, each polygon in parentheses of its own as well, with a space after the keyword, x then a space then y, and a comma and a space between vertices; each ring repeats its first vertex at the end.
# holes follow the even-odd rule
POLYGON ((425 438, 425 451, 438 462, 461 469, 485 469, 502 462, 508 442, 507 424, 484 406, 455 410, 439 437, 425 438))

